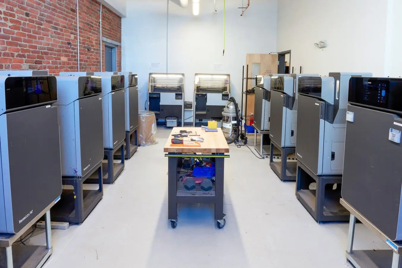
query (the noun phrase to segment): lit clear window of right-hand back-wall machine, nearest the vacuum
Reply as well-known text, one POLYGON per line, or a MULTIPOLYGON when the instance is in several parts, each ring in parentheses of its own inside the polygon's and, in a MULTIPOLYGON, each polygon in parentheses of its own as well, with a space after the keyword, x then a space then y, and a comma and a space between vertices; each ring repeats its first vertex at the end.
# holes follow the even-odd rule
POLYGON ((228 74, 195 74, 196 93, 230 93, 228 74))

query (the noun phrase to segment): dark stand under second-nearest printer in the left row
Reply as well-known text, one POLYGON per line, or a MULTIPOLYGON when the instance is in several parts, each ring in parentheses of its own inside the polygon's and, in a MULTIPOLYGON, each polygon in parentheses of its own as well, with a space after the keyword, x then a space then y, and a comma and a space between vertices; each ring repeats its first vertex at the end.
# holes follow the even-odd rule
POLYGON ((51 221, 81 224, 103 197, 102 162, 94 166, 81 180, 62 177, 63 185, 72 185, 74 190, 63 189, 60 201, 51 209, 51 221), (97 172, 96 172, 97 171, 97 172), (84 182, 98 176, 98 190, 84 190, 84 182))

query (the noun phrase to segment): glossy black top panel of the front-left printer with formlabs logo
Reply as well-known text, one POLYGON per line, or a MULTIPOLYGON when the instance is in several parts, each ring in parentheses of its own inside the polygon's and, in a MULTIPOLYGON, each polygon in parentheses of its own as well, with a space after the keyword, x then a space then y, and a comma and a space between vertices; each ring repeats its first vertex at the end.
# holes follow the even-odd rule
POLYGON ((4 88, 6 110, 57 101, 54 76, 10 76, 4 88))

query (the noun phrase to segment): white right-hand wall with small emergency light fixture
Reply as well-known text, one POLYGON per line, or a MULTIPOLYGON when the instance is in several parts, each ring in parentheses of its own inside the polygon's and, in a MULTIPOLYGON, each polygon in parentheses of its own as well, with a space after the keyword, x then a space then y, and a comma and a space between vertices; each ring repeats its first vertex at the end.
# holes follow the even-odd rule
POLYGON ((278 1, 277 49, 291 50, 291 67, 297 73, 302 66, 307 74, 383 76, 386 28, 387 0, 278 1), (321 40, 328 47, 314 46, 321 40))

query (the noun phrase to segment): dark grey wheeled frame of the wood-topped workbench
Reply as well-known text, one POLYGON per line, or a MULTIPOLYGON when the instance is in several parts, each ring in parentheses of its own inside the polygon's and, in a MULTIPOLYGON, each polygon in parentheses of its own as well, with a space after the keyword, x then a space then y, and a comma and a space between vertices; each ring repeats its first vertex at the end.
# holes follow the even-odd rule
MULTIPOLYGON (((215 220, 217 223, 225 224, 224 214, 224 160, 229 155, 224 153, 196 154, 196 153, 166 153, 168 157, 168 219, 172 227, 177 224, 177 204, 214 204, 215 220), (215 193, 212 194, 192 194, 179 195, 177 188, 177 166, 181 158, 191 157, 210 157, 215 158, 215 193)), ((209 193, 209 192, 206 192, 209 193)), ((223 226, 222 226, 223 227, 223 226)), ((221 228, 222 228, 221 227, 221 228)))

